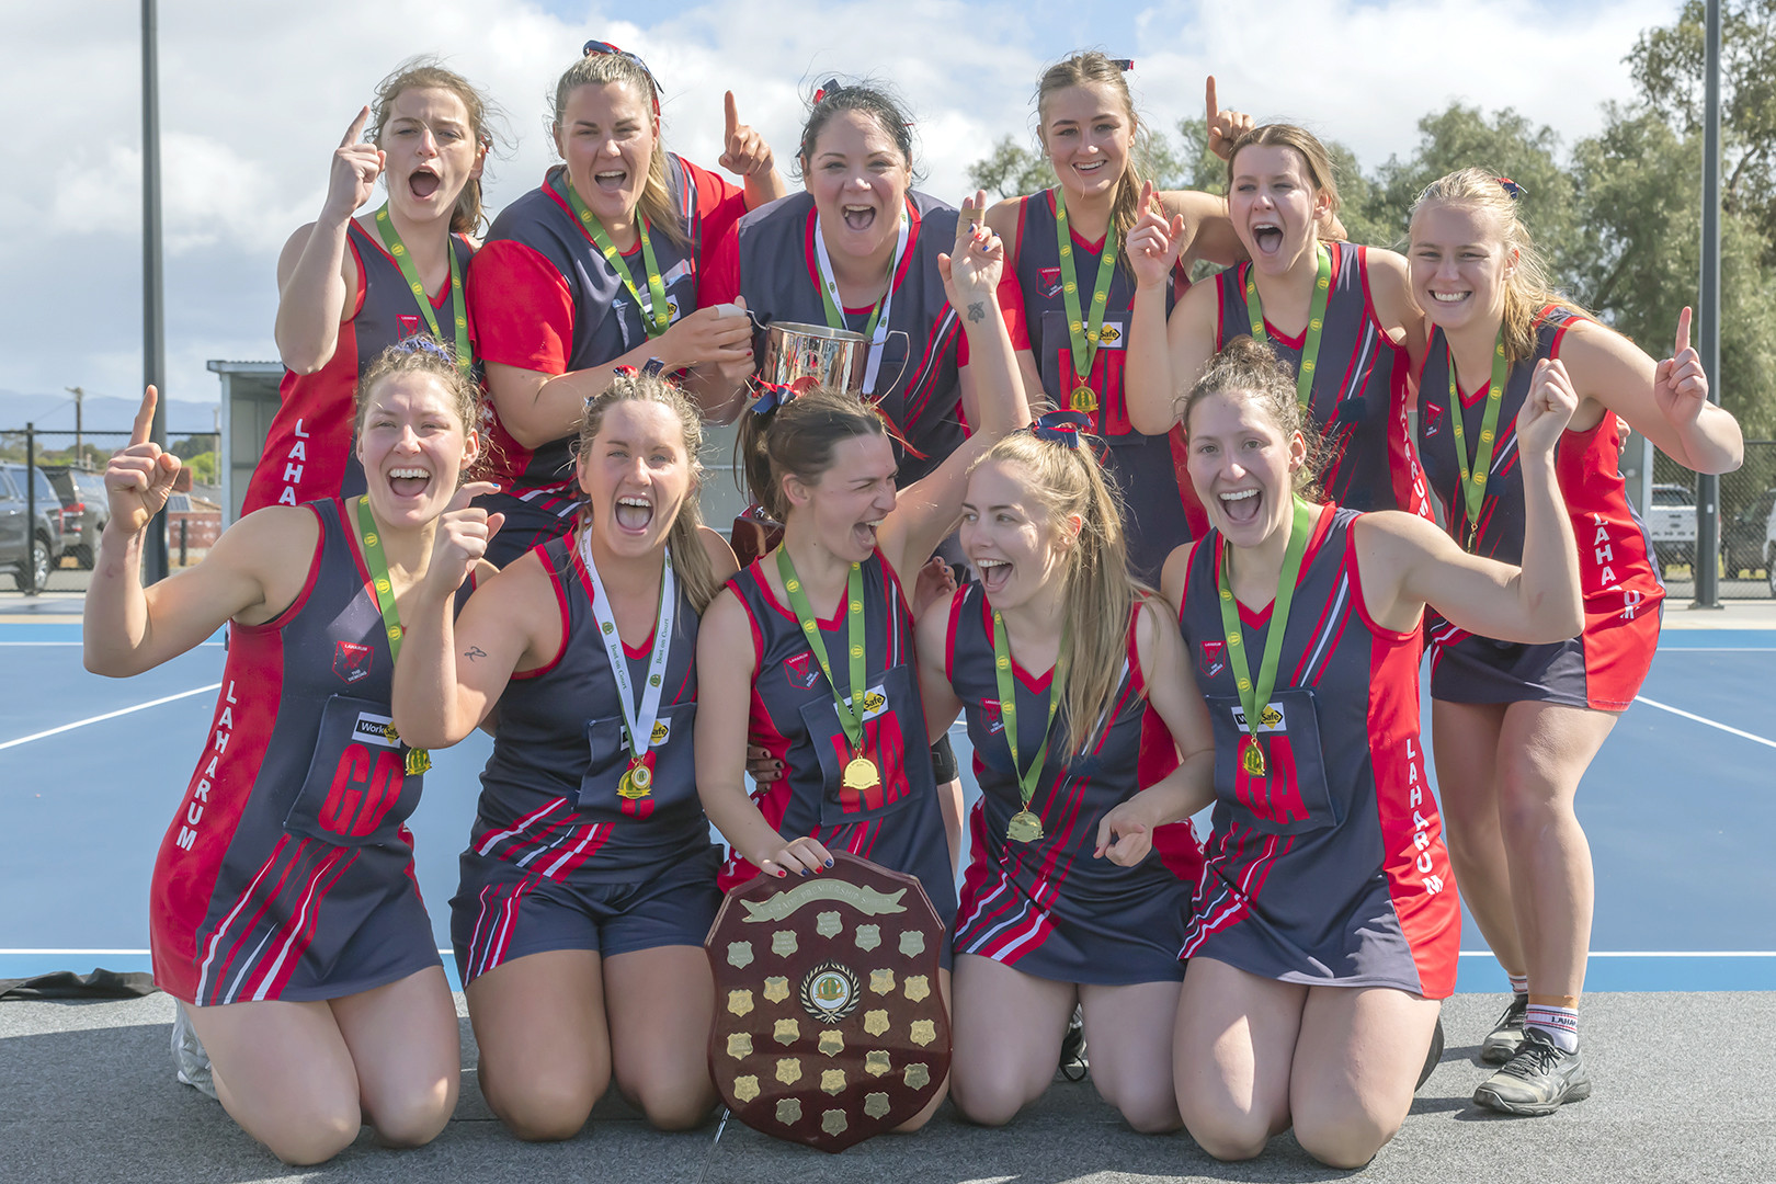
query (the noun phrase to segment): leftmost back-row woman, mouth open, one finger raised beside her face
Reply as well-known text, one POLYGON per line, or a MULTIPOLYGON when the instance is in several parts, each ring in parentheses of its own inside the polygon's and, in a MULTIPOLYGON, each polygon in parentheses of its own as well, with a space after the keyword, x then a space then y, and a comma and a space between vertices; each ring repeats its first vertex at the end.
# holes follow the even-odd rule
POLYGON ((472 364, 462 277, 481 225, 488 122, 487 98, 424 59, 384 78, 352 121, 320 218, 277 259, 284 380, 243 515, 364 492, 352 449, 357 380, 396 341, 430 334, 472 364), (378 179, 387 201, 355 217, 378 179))

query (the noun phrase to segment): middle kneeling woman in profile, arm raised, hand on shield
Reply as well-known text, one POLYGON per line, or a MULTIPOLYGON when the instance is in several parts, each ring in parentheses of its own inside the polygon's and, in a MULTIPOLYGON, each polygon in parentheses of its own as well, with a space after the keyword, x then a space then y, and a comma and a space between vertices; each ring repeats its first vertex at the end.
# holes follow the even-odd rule
MULTIPOLYGON (((986 229, 966 231, 954 266, 938 256, 982 366, 980 424, 920 481, 895 493, 888 426, 856 396, 771 389, 746 412, 748 479, 783 541, 728 580, 698 639, 696 783, 732 845, 725 886, 819 873, 831 847, 916 875, 945 925, 955 916, 900 573, 955 525, 973 460, 1030 417, 993 298, 1002 261, 986 229), (741 781, 748 735, 783 762, 757 799, 741 781)), ((945 946, 945 999, 948 962, 945 946)))

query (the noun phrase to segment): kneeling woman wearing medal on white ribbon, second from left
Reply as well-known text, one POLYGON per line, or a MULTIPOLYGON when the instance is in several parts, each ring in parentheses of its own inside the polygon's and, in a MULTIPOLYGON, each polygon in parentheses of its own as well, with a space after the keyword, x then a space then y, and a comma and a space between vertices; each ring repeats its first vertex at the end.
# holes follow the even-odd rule
POLYGON ((611 1083, 659 1127, 716 1102, 707 1046, 716 847, 691 726, 698 614, 733 554, 698 524, 696 408, 625 371, 586 403, 575 531, 451 623, 439 556, 396 724, 455 744, 499 705, 451 939, 481 1092, 527 1140, 572 1138, 611 1083))

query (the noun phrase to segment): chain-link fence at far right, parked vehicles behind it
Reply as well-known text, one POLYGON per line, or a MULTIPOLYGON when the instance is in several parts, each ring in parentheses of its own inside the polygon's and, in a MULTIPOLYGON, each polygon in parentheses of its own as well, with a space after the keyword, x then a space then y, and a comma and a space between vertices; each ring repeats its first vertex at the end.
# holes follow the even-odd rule
MULTIPOLYGON (((1641 440, 1636 438, 1636 446, 1641 440)), ((1632 446, 1630 446, 1632 447, 1632 446)), ((1629 458, 1623 458, 1629 467, 1629 458)), ((1675 602, 1696 595, 1696 474, 1653 451, 1650 504, 1636 509, 1653 538, 1675 602)), ((1721 476, 1721 600, 1776 596, 1776 440, 1746 440, 1746 463, 1721 476)))

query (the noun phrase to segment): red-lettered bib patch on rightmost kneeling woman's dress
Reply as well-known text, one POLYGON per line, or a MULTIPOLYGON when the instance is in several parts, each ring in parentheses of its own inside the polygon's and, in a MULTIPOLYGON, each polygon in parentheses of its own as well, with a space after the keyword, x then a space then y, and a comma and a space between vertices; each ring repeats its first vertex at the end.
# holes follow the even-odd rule
POLYGON ((1247 730, 1240 699, 1208 696, 1208 705, 1215 721, 1215 793, 1241 822, 1263 834, 1307 834, 1343 822, 1327 785, 1312 691, 1270 696, 1257 728, 1265 740, 1263 774, 1247 772, 1241 760, 1247 730))

